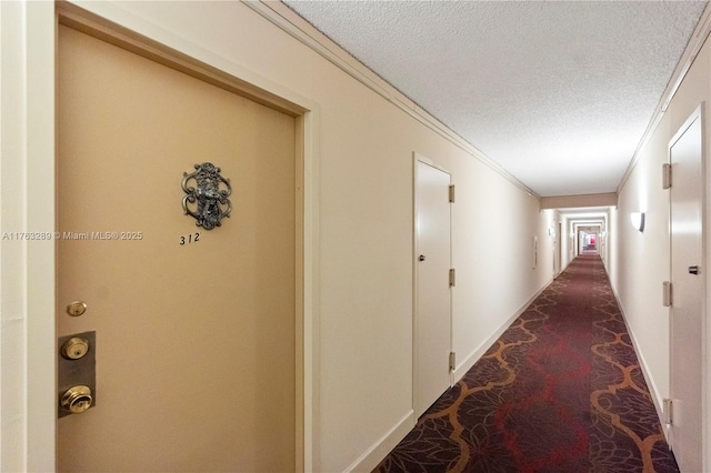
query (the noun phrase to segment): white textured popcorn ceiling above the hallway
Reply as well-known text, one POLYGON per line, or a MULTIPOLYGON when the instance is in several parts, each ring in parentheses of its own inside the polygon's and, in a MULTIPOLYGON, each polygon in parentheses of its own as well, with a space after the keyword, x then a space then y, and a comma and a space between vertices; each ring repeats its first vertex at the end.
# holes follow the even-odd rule
POLYGON ((540 195, 613 192, 705 1, 284 1, 540 195))

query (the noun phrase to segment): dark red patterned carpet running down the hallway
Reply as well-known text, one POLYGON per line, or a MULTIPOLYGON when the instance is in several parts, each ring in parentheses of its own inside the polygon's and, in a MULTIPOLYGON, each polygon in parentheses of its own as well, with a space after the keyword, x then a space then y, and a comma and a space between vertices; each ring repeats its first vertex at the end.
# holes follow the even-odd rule
POLYGON ((600 258, 577 258, 375 471, 678 472, 600 258))

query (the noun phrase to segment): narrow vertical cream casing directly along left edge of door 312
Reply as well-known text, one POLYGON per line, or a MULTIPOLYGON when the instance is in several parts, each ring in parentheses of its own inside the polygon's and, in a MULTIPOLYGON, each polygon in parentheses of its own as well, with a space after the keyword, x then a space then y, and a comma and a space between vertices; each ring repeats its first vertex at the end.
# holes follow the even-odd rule
MULTIPOLYGON (((27 229, 54 230, 54 8, 27 3, 27 229)), ((29 471, 54 463, 54 243, 27 246, 27 390, 29 471), (48 264, 51 262, 51 264, 48 264), (51 383, 51 390, 47 390, 51 383)))

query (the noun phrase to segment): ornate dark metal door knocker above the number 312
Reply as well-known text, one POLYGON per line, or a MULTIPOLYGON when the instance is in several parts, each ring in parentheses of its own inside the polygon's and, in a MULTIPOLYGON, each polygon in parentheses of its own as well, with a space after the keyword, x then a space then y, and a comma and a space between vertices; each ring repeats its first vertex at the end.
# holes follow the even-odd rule
POLYGON ((206 230, 220 227, 224 217, 230 217, 232 203, 228 199, 232 193, 230 180, 220 175, 220 168, 211 162, 196 164, 196 171, 188 174, 182 173, 182 190, 186 195, 182 198, 182 210, 186 215, 196 218, 196 224, 206 230), (188 187, 188 181, 194 179, 198 188, 188 187), (227 189, 220 189, 223 183, 227 189), (198 203, 196 210, 191 210, 188 203, 198 203))

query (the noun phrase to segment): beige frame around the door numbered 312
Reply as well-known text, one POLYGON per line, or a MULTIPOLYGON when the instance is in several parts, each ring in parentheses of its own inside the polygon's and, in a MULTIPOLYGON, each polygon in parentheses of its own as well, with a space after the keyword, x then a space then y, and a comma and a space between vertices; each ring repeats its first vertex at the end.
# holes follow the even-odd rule
MULTIPOLYGON (((4 3, 4 2, 2 2, 4 3)), ((207 51, 190 41, 169 33, 140 18, 132 17, 110 3, 88 3, 84 8, 76 4, 58 2, 27 2, 2 6, 0 22, 3 27, 14 26, 21 29, 24 24, 33 24, 29 31, 10 31, 3 39, 14 33, 18 41, 26 41, 27 51, 19 58, 21 66, 31 71, 27 77, 16 74, 24 92, 22 99, 29 104, 3 103, 2 125, 11 123, 10 117, 19 114, 24 121, 21 139, 24 149, 16 157, 17 169, 4 174, 3 158, 2 184, 26 182, 24 192, 19 189, 12 199, 3 200, 16 203, 9 215, 3 215, 3 230, 10 231, 10 223, 17 221, 14 229, 26 231, 54 231, 56 222, 56 51, 57 30, 60 23, 78 29, 109 43, 124 48, 163 66, 179 70, 206 82, 221 87, 231 92, 247 97, 260 104, 282 111, 296 118, 297 122, 297 274, 296 274, 296 471, 311 471, 319 457, 318 445, 318 393, 319 393, 319 109, 289 89, 270 82, 252 71, 207 51), (34 28, 37 27, 37 28, 34 28), (23 81, 23 82, 22 82, 23 81), (32 139, 29 139, 32 130, 32 139), (11 181, 11 179, 13 181, 11 181), (9 223, 8 223, 9 222, 9 223)), ((7 41, 7 40, 6 40, 7 41)), ((4 56, 3 56, 4 59, 4 56)), ((20 68, 22 70, 22 68, 20 68)), ((4 77, 4 73, 3 73, 4 77)), ((3 137, 4 137, 3 130, 3 137)), ((3 193, 3 197, 6 194, 3 193)), ((4 211, 3 211, 4 213, 4 211)), ((17 230, 16 230, 17 231, 17 230)), ((21 412, 12 425, 22 436, 21 452, 8 460, 8 465, 21 465, 20 470, 54 470, 57 422, 56 407, 56 328, 54 299, 56 278, 54 244, 26 244, 23 253, 16 256, 4 271, 22 274, 21 288, 2 288, 4 291, 16 290, 13 294, 19 304, 24 304, 26 341, 20 365, 10 374, 24 379, 27 391, 16 393, 10 402, 19 404, 21 412), (9 268, 8 268, 9 266, 9 268), (16 426, 17 425, 17 426, 16 426)), ((7 252, 3 251, 2 258, 7 252)), ((4 272, 3 271, 3 272, 4 272)), ((4 298, 3 298, 4 300, 4 298)), ((12 308, 10 308, 12 309, 12 308)), ((8 311, 2 306, 3 318, 8 311)), ((4 319, 3 319, 4 321, 4 319)), ((13 341, 18 344, 18 333, 3 328, 0 342, 13 341)), ((3 374, 8 372, 2 366, 3 374)), ((18 381, 20 381, 18 380, 18 381)), ((3 380, 4 382, 6 380, 3 380)), ((3 383, 4 384, 4 383, 3 383)), ((4 394, 3 390, 3 394, 4 394)), ((3 407, 4 407, 3 402, 3 407)), ((6 434, 3 419, 3 435, 6 434)), ((4 451, 3 451, 4 453, 4 451)), ((9 470, 13 470, 9 467, 9 470)))

